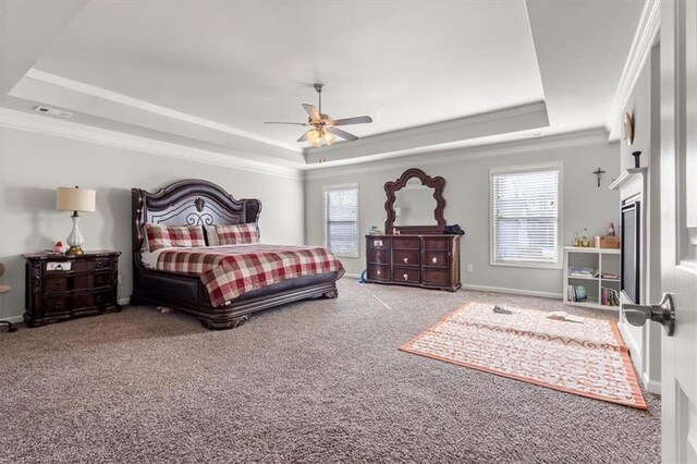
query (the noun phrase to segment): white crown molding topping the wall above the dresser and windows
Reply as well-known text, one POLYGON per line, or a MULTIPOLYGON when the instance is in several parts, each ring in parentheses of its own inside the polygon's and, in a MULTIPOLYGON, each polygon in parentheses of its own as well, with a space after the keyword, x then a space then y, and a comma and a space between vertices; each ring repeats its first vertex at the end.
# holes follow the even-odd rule
MULTIPOLYGON (((357 164, 337 166, 327 168, 315 168, 305 171, 305 179, 313 181, 317 179, 331 179, 346 174, 360 174, 379 170, 393 170, 448 164, 457 161, 468 161, 480 158, 497 156, 517 155, 526 152, 537 152, 542 150, 553 150, 562 148, 585 147, 585 146, 607 146, 608 133, 603 127, 590 129, 586 131, 570 132, 565 134, 549 135, 546 137, 505 142, 477 147, 464 147, 443 151, 429 151, 407 157, 381 159, 357 164)), ((318 166, 318 164, 314 164, 318 166)), ((319 164, 321 166, 321 164, 319 164)))

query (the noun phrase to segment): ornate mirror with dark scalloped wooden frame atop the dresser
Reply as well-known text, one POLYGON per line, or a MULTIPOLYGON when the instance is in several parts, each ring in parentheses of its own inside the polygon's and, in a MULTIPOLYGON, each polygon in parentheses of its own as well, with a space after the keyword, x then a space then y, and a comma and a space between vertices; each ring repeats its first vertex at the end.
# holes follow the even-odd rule
POLYGON ((443 232, 445 199, 443 178, 431 178, 420 169, 408 169, 394 182, 384 184, 388 234, 438 234, 443 232))

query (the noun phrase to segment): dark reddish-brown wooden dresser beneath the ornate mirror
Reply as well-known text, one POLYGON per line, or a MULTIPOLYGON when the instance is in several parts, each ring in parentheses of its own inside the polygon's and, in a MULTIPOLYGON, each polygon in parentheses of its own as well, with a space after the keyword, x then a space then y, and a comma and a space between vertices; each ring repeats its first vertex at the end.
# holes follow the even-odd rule
POLYGON ((366 235, 366 281, 454 292, 460 280, 460 235, 366 235))

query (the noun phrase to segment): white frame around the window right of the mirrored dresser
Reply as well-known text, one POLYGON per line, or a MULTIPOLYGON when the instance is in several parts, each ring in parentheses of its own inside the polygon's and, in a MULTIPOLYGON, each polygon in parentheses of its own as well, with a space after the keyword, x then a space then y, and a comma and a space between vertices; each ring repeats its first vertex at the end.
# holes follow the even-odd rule
POLYGON ((533 269, 562 269, 563 268, 563 206, 564 206, 564 164, 563 162, 545 162, 536 164, 523 164, 513 167, 491 168, 489 170, 489 264, 491 266, 505 266, 533 269), (525 259, 498 260, 496 257, 496 198, 494 176, 500 174, 513 174, 537 171, 558 171, 557 182, 557 259, 554 262, 537 262, 525 259))

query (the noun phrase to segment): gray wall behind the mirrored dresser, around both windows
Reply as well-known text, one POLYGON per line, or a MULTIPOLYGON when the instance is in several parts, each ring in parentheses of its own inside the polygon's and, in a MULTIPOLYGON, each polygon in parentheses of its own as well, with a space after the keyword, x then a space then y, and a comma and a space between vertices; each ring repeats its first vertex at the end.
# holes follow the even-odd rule
MULTIPOLYGON (((607 137, 604 138, 607 141, 607 137)), ((511 145, 508 144, 509 148, 511 145)), ((509 149, 508 154, 491 147, 462 149, 439 156, 426 154, 412 161, 395 159, 360 166, 328 168, 308 173, 305 185, 305 228, 307 243, 322 244, 322 186, 357 183, 359 188, 359 230, 384 224, 386 200, 383 185, 394 181, 407 168, 420 168, 429 175, 445 178, 445 219, 458 223, 466 232, 462 240, 463 283, 466 285, 523 290, 525 293, 561 295, 561 269, 533 269, 489 264, 489 170, 498 167, 524 166, 561 161, 563 163, 563 243, 570 245, 573 234, 588 228, 591 234, 606 234, 610 222, 619 222, 620 198, 617 192, 608 188, 619 175, 617 144, 608 144, 597 137, 590 145, 574 144, 565 147, 535 148, 535 143, 524 150, 509 149), (513 152, 515 151, 515 152, 513 152), (441 158, 442 157, 442 158, 441 158), (428 159, 429 162, 424 162, 428 159), (598 167, 607 173, 601 187, 597 187, 592 174, 598 167), (466 265, 474 271, 466 273, 466 265)), ((543 146, 543 144, 542 144, 543 146)), ((503 150, 505 151, 505 150, 503 150)), ((360 244, 360 258, 342 258, 346 271, 357 274, 365 268, 365 243, 360 244)))

